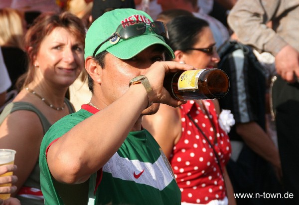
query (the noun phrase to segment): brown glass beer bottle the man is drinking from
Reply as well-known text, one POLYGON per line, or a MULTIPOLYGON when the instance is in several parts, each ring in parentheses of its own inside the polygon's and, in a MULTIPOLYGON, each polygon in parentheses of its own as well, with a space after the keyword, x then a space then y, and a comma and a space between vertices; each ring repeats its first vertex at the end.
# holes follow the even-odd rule
POLYGON ((167 73, 163 86, 177 100, 219 99, 229 89, 227 74, 218 68, 167 73))

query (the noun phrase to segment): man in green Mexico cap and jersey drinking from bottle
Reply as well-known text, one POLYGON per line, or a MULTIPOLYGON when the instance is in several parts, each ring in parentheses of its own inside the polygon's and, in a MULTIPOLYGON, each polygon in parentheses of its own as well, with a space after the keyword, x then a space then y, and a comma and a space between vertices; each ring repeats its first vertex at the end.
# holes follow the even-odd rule
POLYGON ((46 205, 180 204, 171 167, 142 128, 142 116, 159 103, 183 103, 163 87, 165 73, 193 69, 164 62, 174 56, 167 37, 165 25, 140 10, 115 9, 93 22, 85 40, 92 98, 55 123, 41 144, 46 205))

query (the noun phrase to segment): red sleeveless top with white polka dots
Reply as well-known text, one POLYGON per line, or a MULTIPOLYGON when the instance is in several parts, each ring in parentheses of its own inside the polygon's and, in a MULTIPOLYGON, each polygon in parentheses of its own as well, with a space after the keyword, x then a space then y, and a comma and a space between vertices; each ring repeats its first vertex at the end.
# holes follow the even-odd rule
MULTIPOLYGON (((215 125, 217 140, 214 148, 223 169, 231 155, 229 138, 218 124, 213 102, 211 100, 202 102, 215 125)), ((213 126, 208 116, 194 101, 183 104, 180 113, 182 134, 173 148, 170 164, 182 193, 182 202, 207 204, 212 200, 223 200, 226 196, 225 184, 213 149, 187 114, 190 113, 212 144, 215 140, 213 126)))

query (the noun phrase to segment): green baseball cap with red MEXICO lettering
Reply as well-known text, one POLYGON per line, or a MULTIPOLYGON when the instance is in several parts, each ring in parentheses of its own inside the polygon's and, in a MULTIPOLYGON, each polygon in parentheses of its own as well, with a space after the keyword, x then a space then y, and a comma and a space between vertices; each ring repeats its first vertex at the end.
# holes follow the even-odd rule
MULTIPOLYGON (((85 37, 85 54, 84 58, 93 56, 95 49, 111 36, 117 27, 127 21, 139 20, 147 24, 152 22, 152 18, 142 10, 133 8, 119 8, 105 12, 97 18, 89 27, 85 37)), ((105 42, 96 52, 95 55, 107 50, 112 55, 120 59, 130 59, 154 44, 161 44, 166 48, 166 52, 174 58, 173 50, 165 43, 161 35, 156 34, 148 28, 146 31, 128 39, 115 39, 105 42)))

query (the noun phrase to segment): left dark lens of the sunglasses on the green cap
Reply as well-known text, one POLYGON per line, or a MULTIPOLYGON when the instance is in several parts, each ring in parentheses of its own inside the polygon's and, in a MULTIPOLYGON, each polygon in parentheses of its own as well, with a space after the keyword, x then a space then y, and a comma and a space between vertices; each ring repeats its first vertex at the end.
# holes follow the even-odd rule
POLYGON ((141 35, 146 31, 146 24, 144 22, 134 22, 125 28, 121 28, 119 34, 121 38, 127 39, 133 36, 141 35))

